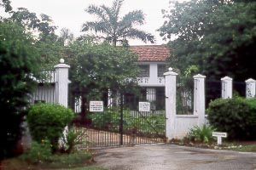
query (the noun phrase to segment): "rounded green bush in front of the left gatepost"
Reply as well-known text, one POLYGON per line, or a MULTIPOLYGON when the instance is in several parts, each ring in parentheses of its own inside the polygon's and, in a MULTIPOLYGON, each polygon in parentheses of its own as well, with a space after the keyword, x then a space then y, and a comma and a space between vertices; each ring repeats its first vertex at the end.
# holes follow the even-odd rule
POLYGON ((53 151, 58 148, 64 127, 73 119, 73 111, 58 104, 38 103, 29 108, 26 120, 32 139, 40 143, 49 139, 53 151))

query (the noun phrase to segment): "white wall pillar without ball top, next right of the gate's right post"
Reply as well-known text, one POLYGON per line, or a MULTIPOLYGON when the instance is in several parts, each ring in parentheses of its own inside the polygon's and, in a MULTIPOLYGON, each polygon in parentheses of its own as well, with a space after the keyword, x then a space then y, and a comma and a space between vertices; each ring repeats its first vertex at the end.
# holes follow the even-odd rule
POLYGON ((205 94, 205 76, 195 75, 194 78, 194 115, 198 116, 198 126, 205 124, 206 94, 205 94))

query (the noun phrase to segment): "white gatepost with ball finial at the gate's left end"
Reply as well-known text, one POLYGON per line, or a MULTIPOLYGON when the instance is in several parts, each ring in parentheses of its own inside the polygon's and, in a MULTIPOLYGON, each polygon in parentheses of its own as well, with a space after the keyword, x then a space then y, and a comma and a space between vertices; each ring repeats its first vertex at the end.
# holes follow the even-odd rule
POLYGON ((68 69, 69 65, 64 64, 64 59, 60 59, 60 64, 55 65, 55 103, 67 107, 68 97, 68 69))

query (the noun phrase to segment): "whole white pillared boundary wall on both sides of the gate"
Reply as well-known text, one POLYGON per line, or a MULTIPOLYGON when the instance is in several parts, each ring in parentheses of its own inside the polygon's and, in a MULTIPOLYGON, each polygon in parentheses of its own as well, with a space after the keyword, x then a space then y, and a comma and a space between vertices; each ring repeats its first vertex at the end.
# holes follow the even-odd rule
MULTIPOLYGON (((68 69, 69 65, 64 64, 64 60, 60 60, 60 64, 55 65, 54 83, 48 87, 38 87, 32 102, 42 100, 40 95, 44 96, 44 101, 47 103, 59 103, 67 107, 68 99, 68 69)), ((207 124, 206 110, 206 94, 205 94, 205 76, 196 75, 194 77, 194 111, 189 115, 177 115, 176 111, 176 81, 177 73, 169 69, 165 74, 166 86, 166 138, 167 139, 182 139, 189 129, 198 125, 207 124)), ((246 82, 246 97, 253 98, 256 93, 256 81, 252 78, 246 82)), ((232 78, 223 77, 222 83, 222 98, 232 98, 232 78)), ((79 108, 77 108, 79 109, 79 108)))

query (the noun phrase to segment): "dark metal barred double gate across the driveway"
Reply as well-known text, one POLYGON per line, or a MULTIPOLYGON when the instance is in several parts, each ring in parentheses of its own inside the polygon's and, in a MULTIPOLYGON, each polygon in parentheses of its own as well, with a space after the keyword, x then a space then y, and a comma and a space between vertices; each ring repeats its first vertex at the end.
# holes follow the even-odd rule
MULTIPOLYGON (((134 94, 121 94, 118 105, 106 105, 103 111, 87 112, 84 124, 75 123, 77 127, 83 128, 87 138, 84 140, 90 143, 91 147, 108 147, 134 144, 154 144, 166 142, 166 112, 164 88, 145 88, 143 97, 138 99, 134 94), (152 91, 154 93, 152 93, 152 91), (138 102, 146 101, 150 103, 150 111, 138 111, 138 102), (79 125, 79 126, 78 126, 79 125)), ((82 100, 81 94, 73 94, 77 100, 82 100)), ((107 95, 103 95, 107 96, 107 95)), ((74 110, 79 110, 81 105, 73 106, 74 110)), ((76 116, 81 119, 81 110, 76 116)))

